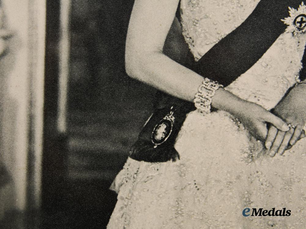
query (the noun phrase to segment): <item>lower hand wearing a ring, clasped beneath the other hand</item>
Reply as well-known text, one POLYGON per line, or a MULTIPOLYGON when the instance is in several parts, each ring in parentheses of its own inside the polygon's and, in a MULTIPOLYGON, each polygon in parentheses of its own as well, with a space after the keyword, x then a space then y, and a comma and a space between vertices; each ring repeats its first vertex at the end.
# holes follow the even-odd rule
POLYGON ((268 154, 283 154, 297 140, 305 137, 303 127, 306 122, 306 84, 296 85, 273 109, 273 113, 293 125, 289 131, 283 132, 273 125, 269 127, 265 146, 268 154))

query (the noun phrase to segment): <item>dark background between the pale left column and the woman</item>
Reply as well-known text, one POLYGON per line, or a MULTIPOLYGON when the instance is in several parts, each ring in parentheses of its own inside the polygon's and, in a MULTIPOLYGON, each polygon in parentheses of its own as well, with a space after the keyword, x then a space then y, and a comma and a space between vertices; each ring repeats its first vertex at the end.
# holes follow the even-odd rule
POLYGON ((124 70, 133 1, 72 0, 67 130, 59 133, 60 1, 47 0, 42 228, 105 228, 108 188, 151 112, 154 90, 124 70))

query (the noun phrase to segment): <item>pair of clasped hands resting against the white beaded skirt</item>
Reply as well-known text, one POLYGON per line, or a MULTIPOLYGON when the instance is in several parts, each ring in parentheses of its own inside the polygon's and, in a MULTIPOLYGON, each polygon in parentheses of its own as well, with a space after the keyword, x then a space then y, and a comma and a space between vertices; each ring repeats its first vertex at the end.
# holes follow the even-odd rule
POLYGON ((233 115, 258 140, 265 143, 267 153, 274 156, 283 154, 297 140, 305 137, 306 84, 296 85, 270 112, 263 107, 245 101, 243 108, 233 115), (289 128, 288 124, 294 126, 289 128), (267 128, 268 126, 268 128, 267 128))

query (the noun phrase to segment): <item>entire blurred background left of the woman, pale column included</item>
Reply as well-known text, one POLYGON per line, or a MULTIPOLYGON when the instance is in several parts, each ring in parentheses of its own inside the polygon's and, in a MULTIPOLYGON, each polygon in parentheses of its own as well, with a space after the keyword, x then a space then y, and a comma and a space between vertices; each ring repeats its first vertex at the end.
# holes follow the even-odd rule
POLYGON ((106 227, 155 93, 125 73, 132 5, 1 0, 0 228, 106 227))

